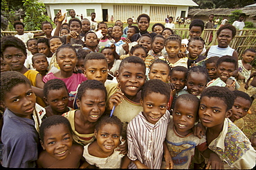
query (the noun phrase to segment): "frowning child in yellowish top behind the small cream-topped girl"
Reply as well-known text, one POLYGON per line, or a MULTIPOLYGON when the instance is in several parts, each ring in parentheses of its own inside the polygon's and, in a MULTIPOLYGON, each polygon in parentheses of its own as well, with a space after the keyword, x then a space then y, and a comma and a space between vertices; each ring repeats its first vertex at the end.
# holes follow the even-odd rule
POLYGON ((81 83, 77 90, 77 107, 62 116, 71 123, 73 140, 85 146, 94 141, 97 120, 105 111, 106 88, 100 81, 88 80, 81 83))

